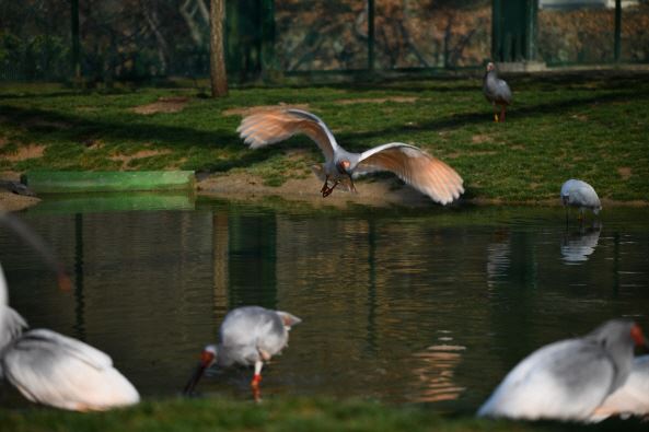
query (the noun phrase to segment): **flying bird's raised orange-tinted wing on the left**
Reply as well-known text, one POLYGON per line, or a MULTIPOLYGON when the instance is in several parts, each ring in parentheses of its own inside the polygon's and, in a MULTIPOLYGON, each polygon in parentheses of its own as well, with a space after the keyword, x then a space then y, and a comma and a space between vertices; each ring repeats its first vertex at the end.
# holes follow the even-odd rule
POLYGON ((322 150, 327 161, 338 147, 332 131, 323 120, 301 109, 271 109, 245 117, 236 131, 251 149, 274 144, 304 133, 322 150))

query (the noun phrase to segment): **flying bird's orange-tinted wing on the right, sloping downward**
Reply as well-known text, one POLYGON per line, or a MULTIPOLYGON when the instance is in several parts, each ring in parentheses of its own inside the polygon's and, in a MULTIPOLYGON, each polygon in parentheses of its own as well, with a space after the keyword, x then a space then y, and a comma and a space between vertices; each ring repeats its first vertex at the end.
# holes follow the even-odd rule
POLYGON ((422 150, 402 142, 391 142, 361 153, 357 170, 361 173, 391 171, 442 205, 452 202, 464 192, 464 180, 455 170, 422 150))

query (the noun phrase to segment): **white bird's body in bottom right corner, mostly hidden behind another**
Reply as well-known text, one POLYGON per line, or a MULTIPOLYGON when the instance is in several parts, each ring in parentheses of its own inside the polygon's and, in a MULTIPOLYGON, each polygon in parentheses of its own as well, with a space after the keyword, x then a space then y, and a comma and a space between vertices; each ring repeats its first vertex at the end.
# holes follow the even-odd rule
POLYGON ((649 416, 649 355, 634 360, 626 383, 595 410, 593 420, 611 416, 649 416))

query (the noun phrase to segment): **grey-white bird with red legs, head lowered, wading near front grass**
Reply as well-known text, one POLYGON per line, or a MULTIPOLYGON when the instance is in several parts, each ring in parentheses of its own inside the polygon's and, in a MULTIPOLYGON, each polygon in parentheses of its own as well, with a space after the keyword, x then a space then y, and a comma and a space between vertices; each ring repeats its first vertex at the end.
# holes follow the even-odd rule
POLYGON ((200 362, 185 386, 185 394, 194 390, 205 371, 212 364, 224 367, 240 364, 255 366, 251 387, 253 396, 258 399, 264 362, 287 347, 289 330, 300 323, 300 318, 287 312, 259 306, 243 306, 230 311, 219 329, 219 345, 205 347, 200 362))

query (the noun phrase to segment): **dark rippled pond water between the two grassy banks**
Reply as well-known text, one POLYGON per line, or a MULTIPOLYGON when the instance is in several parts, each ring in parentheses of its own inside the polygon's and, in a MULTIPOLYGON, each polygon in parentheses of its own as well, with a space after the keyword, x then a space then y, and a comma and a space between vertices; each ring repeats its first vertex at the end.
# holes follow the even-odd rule
MULTIPOLYGON (((55 201, 21 213, 74 288, 59 291, 1 229, 12 306, 109 353, 144 397, 178 394, 228 310, 285 310, 303 322, 264 370, 264 397, 465 412, 544 343, 618 316, 649 331, 648 209, 604 209, 580 229, 559 207, 193 207, 70 213, 55 201)), ((215 371, 198 390, 247 399, 251 377, 215 371)), ((8 387, 2 397, 20 399, 8 387)))

